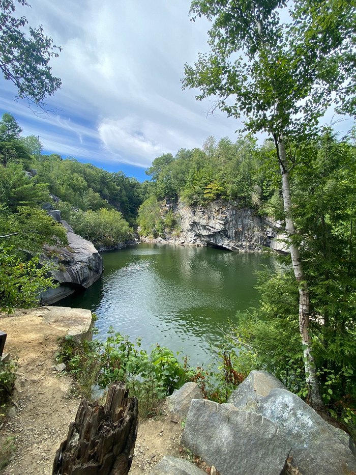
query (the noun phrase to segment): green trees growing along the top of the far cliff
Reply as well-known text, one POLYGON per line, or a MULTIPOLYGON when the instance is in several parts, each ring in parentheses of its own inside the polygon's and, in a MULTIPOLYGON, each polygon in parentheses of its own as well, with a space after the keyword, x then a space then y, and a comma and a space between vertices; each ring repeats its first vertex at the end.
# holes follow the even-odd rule
POLYGON ((155 166, 146 172, 152 176, 150 197, 157 201, 181 198, 202 206, 218 198, 234 199, 242 206, 259 207, 278 189, 269 166, 268 173, 260 170, 269 155, 269 146, 258 148, 250 136, 236 143, 228 138, 216 143, 215 137, 208 137, 203 150, 181 149, 175 157, 164 160, 162 155, 154 160, 155 166))

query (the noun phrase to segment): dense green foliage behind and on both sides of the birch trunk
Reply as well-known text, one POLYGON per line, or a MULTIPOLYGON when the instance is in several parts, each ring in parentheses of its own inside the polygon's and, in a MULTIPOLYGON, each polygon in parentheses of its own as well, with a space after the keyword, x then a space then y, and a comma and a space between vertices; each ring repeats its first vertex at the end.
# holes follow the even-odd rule
MULTIPOLYGON (((293 217, 309 283, 310 328, 320 394, 330 414, 354 430, 356 150, 352 136, 338 142, 327 129, 293 153, 301 161, 291 176, 293 217)), ((276 193, 265 205, 275 217, 282 217, 279 200, 276 193)), ((294 393, 307 397, 297 323, 299 292, 289 258, 281 260, 286 266, 279 272, 259 276, 259 308, 238 316, 233 339, 240 351, 232 364, 244 373, 252 369, 270 371, 294 393)))

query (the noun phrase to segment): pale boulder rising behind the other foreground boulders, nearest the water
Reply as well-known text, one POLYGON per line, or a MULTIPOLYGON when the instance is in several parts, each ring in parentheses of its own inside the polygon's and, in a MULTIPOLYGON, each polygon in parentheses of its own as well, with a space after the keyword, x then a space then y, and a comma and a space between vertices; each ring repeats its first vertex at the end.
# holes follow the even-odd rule
POLYGON ((266 371, 251 371, 248 377, 239 384, 228 399, 228 403, 245 410, 254 411, 258 401, 268 396, 272 389, 286 389, 273 374, 266 371))

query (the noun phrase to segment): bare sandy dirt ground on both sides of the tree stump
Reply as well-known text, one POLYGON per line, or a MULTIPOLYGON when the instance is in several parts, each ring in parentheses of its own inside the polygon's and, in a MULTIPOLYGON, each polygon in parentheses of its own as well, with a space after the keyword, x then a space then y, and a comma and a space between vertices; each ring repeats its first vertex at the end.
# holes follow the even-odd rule
MULTIPOLYGON (((0 317, 8 333, 5 353, 18 358, 10 415, 0 422, 0 446, 14 445, 3 475, 52 473, 56 450, 74 420, 79 399, 71 395, 71 378, 54 370, 57 338, 64 331, 43 319, 0 317)), ((180 456, 180 421, 167 414, 139 424, 130 473, 149 473, 164 455, 180 456)))

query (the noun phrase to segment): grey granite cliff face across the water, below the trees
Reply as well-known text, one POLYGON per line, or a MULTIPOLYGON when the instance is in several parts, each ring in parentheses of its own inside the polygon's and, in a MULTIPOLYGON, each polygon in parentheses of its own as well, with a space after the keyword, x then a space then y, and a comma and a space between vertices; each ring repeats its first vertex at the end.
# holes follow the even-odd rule
POLYGON ((181 216, 180 243, 258 252, 269 246, 273 237, 272 229, 256 210, 241 208, 236 202, 216 200, 206 207, 179 203, 177 212, 181 216))

